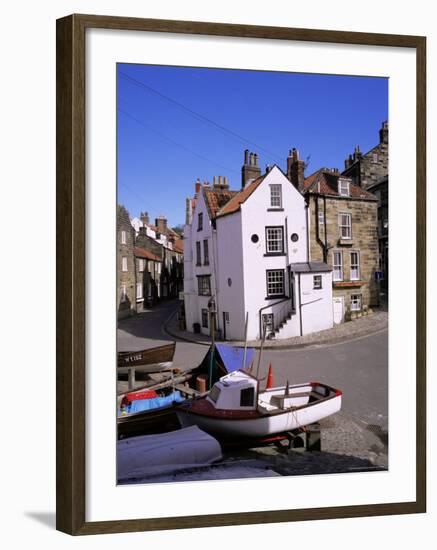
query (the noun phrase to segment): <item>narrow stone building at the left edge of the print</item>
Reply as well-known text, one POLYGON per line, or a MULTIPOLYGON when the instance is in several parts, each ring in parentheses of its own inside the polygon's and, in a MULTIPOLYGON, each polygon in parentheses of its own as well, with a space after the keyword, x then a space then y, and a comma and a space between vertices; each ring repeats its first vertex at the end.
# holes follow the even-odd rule
POLYGON ((135 231, 129 212, 117 205, 117 314, 119 319, 136 311, 135 231))

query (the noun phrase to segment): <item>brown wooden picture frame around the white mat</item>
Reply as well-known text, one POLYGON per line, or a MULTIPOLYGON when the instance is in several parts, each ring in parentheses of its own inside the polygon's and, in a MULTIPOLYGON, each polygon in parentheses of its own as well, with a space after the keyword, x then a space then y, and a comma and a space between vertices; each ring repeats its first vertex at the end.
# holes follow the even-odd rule
POLYGON ((426 39, 420 36, 71 15, 57 21, 57 529, 72 535, 424 512, 426 509, 426 39), (85 33, 87 29, 400 47, 416 52, 416 498, 411 502, 86 521, 85 33))

